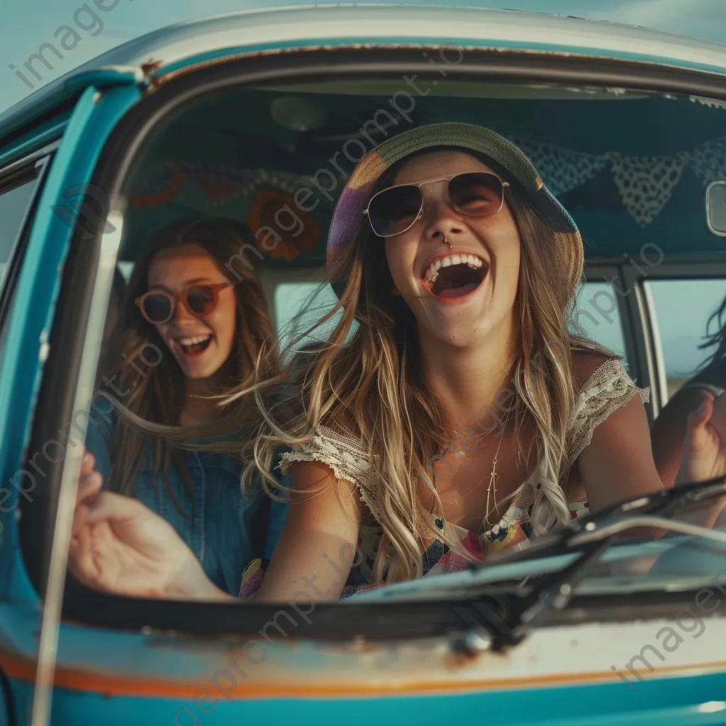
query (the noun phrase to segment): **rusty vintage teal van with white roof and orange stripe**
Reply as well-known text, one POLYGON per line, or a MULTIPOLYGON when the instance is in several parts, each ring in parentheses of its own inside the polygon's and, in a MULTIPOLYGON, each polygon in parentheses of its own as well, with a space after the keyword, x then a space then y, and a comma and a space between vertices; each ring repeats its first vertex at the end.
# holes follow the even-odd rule
POLYGON ((183 23, 82 65, 0 115, 0 724, 726 724, 726 534, 690 522, 722 481, 340 603, 141 600, 67 576, 73 436, 117 271, 177 219, 268 227, 274 249, 251 251, 284 342, 311 293, 322 313, 335 300, 319 283, 346 174, 431 121, 512 139, 573 214, 574 324, 650 386, 651 421, 688 378, 726 296, 726 45, 311 6, 183 23), (669 536, 618 539, 648 523, 669 536))

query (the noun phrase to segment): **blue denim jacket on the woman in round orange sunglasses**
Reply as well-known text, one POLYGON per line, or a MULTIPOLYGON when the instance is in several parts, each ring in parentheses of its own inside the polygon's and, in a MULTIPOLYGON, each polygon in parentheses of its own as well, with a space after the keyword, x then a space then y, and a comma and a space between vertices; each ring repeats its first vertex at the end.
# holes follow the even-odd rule
MULTIPOLYGON (((105 484, 111 468, 109 449, 114 418, 111 413, 106 419, 110 424, 91 420, 86 434, 86 448, 96 457, 96 470, 105 484)), ((242 495, 242 463, 232 457, 184 449, 181 454, 193 486, 192 496, 179 470, 171 465, 168 482, 177 506, 169 496, 162 473, 155 481, 152 479, 147 457, 134 483, 134 497, 174 526, 217 587, 237 595, 245 568, 253 560, 272 557, 285 524, 287 503, 274 501, 261 491, 254 497, 242 495)), ((290 486, 289 477, 280 481, 290 486)))

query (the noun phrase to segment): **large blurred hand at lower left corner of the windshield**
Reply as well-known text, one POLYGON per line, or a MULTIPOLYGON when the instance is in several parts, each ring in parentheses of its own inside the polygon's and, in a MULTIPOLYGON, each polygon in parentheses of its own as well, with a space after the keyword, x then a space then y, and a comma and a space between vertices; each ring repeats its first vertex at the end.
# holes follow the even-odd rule
POLYGON ((131 497, 101 491, 86 452, 78 481, 68 567, 105 592, 181 600, 236 600, 215 587, 166 520, 131 497))

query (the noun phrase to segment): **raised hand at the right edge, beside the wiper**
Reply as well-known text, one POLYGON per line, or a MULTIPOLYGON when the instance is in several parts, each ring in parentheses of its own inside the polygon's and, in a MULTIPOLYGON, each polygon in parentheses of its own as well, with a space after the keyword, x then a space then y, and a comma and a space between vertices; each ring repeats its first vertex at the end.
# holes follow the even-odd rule
POLYGON ((701 405, 688 415, 676 486, 726 475, 726 396, 701 392, 701 405))

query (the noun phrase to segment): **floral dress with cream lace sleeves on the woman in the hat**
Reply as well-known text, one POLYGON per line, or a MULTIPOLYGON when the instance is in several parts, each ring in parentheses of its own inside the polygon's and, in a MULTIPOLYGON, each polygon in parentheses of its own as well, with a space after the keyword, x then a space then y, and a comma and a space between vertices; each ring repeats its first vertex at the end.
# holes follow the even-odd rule
MULTIPOLYGON (((644 403, 648 401, 648 389, 637 388, 617 359, 608 359, 598 367, 581 388, 576 400, 568 428, 568 460, 574 462, 590 444, 595 428, 613 411, 627 404, 635 394, 644 403)), ((327 464, 337 478, 356 485, 362 502, 367 507, 368 514, 364 517, 359 533, 354 567, 341 597, 349 597, 373 587, 382 587, 382 584, 372 582, 373 563, 382 534, 380 502, 375 493, 372 468, 367 462, 362 443, 352 436, 343 436, 333 429, 320 426, 311 441, 293 446, 290 452, 282 455, 282 472, 286 473, 290 465, 298 461, 327 464)), ((542 486, 543 481, 542 469, 538 465, 521 486, 513 505, 492 529, 484 531, 482 528, 482 531, 475 532, 442 518, 434 518, 436 527, 444 534, 442 540, 458 542, 460 548, 456 551, 444 544, 444 541, 435 539, 423 552, 424 576, 462 571, 473 560, 484 560, 494 552, 528 547, 534 534, 530 523, 532 502, 539 492, 544 492, 547 496, 552 486, 559 486, 554 482, 550 482, 550 486, 542 486)), ((568 509, 573 519, 589 512, 585 499, 568 502, 568 509)), ((243 576, 240 590, 240 597, 243 599, 258 590, 264 577, 262 564, 257 562, 243 576)))

